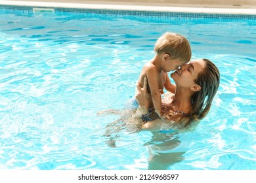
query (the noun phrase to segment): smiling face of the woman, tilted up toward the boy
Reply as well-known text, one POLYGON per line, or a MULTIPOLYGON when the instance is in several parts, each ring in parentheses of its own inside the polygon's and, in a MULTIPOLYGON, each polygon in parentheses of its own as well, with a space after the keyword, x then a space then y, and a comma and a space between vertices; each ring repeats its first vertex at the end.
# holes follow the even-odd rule
POLYGON ((204 67, 205 61, 203 61, 203 59, 195 59, 183 65, 174 73, 171 73, 171 78, 173 78, 177 86, 190 88, 196 84, 194 80, 198 78, 198 74, 203 71, 204 67))

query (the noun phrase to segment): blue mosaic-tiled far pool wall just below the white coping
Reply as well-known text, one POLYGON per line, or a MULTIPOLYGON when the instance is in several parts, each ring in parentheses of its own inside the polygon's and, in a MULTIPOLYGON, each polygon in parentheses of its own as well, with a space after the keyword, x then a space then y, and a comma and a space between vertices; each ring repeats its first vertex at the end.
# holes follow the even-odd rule
MULTIPOLYGON (((256 14, 221 14, 221 13, 207 13, 207 12, 161 12, 161 11, 146 11, 146 10, 111 10, 111 9, 93 9, 93 8, 62 8, 62 7, 32 7, 32 6, 14 6, 14 5, 0 5, 1 13, 15 13, 20 12, 25 14, 35 14, 35 9, 40 10, 42 8, 43 12, 49 8, 49 10, 54 10, 55 14, 66 14, 75 13, 79 14, 90 14, 91 16, 100 16, 101 18, 109 17, 122 17, 123 16, 135 16, 135 18, 142 22, 169 22, 170 20, 179 20, 181 17, 186 18, 188 21, 190 18, 197 18, 197 22, 203 21, 205 19, 218 20, 221 22, 226 22, 234 19, 247 19, 255 20, 256 14)), ((39 12, 40 13, 40 12, 39 12)), ((49 13, 49 12, 46 12, 49 13)), ((95 18, 95 17, 92 17, 95 18)), ((131 17, 129 17, 131 18, 131 17)))

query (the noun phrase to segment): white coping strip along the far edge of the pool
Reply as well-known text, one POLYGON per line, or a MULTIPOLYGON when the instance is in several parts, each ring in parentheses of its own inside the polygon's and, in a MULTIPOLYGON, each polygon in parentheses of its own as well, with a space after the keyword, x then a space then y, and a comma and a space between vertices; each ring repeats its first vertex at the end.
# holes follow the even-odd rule
POLYGON ((163 7, 142 5, 109 5, 109 4, 86 4, 86 3, 53 3, 39 1, 0 1, 0 5, 48 7, 48 8, 84 8, 100 10, 133 10, 154 12, 186 12, 200 14, 244 14, 256 15, 256 8, 197 8, 197 7, 163 7))

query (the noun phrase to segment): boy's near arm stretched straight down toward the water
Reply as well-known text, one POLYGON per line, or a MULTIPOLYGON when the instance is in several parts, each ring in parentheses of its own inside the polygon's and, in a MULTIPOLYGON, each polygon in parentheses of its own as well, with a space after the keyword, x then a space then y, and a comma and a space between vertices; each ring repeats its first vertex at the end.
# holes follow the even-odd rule
POLYGON ((154 66, 149 67, 146 71, 146 75, 155 111, 161 116, 161 93, 158 84, 158 69, 154 66))

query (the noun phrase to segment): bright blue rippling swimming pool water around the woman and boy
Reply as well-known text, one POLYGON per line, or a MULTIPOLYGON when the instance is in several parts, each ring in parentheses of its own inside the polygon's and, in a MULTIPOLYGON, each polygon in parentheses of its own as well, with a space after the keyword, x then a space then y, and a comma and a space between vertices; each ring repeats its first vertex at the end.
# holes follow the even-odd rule
POLYGON ((5 6, 0 14, 0 169, 256 169, 255 16, 5 6), (97 112, 125 107, 165 31, 219 67, 211 111, 194 131, 158 140, 123 129, 111 148, 103 134, 119 116, 97 112))

